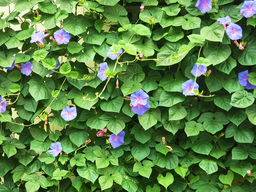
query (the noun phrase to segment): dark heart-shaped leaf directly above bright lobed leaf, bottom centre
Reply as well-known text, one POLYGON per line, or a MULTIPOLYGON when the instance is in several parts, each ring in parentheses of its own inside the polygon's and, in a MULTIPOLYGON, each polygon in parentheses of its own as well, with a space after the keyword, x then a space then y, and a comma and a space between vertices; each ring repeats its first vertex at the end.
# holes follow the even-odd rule
POLYGON ((134 156, 139 162, 144 159, 146 156, 149 155, 150 153, 150 148, 148 145, 144 145, 140 142, 137 142, 133 147, 132 147, 132 156, 134 156))

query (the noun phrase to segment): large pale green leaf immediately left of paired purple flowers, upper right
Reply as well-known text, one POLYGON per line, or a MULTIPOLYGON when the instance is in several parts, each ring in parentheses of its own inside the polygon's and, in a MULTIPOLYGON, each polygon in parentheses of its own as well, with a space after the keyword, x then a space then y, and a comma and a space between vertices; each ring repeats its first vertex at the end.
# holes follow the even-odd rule
POLYGON ((220 24, 219 21, 213 23, 210 27, 203 27, 200 31, 200 34, 207 40, 210 41, 219 41, 222 42, 225 29, 220 24))

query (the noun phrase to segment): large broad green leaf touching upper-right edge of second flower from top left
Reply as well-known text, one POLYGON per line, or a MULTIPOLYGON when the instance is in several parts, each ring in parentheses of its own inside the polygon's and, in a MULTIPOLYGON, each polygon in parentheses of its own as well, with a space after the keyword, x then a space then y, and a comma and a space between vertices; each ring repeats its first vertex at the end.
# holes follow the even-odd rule
MULTIPOLYGON (((57 2, 55 2, 56 4, 57 2)), ((64 4, 62 2, 61 4, 64 4)), ((86 19, 85 16, 79 14, 75 16, 73 13, 69 13, 68 17, 63 20, 63 28, 73 35, 78 35, 85 32, 86 27, 91 27, 91 23, 86 19)))

